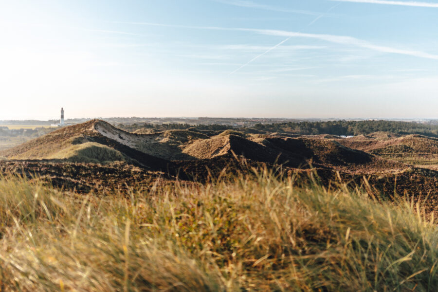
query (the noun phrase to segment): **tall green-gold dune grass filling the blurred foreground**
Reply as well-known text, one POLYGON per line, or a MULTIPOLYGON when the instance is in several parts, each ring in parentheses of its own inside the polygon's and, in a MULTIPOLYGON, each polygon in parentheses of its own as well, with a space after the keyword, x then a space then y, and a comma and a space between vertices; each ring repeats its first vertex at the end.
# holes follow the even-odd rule
POLYGON ((436 291, 420 203, 255 174, 128 197, 2 178, 1 291, 436 291))

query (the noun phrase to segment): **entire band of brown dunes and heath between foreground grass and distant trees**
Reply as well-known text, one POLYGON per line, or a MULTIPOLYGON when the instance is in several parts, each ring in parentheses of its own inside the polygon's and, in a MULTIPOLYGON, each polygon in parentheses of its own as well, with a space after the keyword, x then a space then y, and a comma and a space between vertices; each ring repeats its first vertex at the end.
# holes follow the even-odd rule
MULTIPOLYGON (((82 181, 88 188, 92 184, 90 180, 85 175, 75 179, 74 167, 69 168, 68 164, 78 168, 82 164, 115 168, 132 165, 159 172, 169 179, 177 176, 199 181, 219 175, 224 168, 237 173, 251 172, 253 167, 263 165, 282 165, 289 172, 300 170, 303 175, 314 170, 327 185, 340 177, 353 186, 363 183, 365 176, 377 192, 395 188, 401 193, 407 190, 417 196, 429 193, 435 197, 438 196, 437 141, 420 135, 386 132, 351 138, 236 130, 138 129, 130 133, 104 121, 91 120, 0 151, 0 157, 9 160, 1 163, 4 171, 31 161, 39 166, 24 164, 27 173, 46 176, 42 169, 67 169, 50 177, 58 181, 82 181)), ((144 181, 143 174, 133 176, 144 181)), ((105 179, 95 179, 107 186, 114 185, 105 179)))

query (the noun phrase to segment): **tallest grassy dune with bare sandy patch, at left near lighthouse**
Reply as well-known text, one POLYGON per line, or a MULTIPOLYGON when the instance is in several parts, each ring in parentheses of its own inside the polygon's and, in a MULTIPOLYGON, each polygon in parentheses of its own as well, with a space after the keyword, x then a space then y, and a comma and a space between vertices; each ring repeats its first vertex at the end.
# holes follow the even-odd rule
POLYGON ((167 162, 164 159, 132 147, 136 136, 106 122, 91 120, 3 150, 0 156, 10 160, 61 160, 76 163, 127 161, 154 170, 165 169, 167 162))

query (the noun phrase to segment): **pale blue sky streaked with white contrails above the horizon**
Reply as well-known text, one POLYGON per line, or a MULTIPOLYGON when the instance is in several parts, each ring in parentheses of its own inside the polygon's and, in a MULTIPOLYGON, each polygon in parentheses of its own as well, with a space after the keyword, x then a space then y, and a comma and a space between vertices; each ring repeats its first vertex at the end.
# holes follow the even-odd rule
POLYGON ((0 0, 0 120, 438 118, 438 0, 0 0))

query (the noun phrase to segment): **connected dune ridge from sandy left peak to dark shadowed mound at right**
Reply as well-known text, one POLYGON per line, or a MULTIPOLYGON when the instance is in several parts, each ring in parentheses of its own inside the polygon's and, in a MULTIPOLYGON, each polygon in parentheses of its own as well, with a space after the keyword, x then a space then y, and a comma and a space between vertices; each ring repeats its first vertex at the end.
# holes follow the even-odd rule
POLYGON ((56 159, 81 163, 143 163, 145 157, 155 157, 163 159, 164 163, 164 160, 211 159, 232 153, 257 162, 277 162, 291 167, 305 166, 310 162, 331 167, 376 161, 365 152, 321 137, 247 135, 230 130, 214 136, 189 130, 141 134, 129 133, 99 120, 56 130, 2 151, 0 155, 8 159, 56 159))

